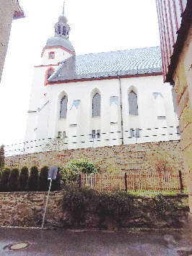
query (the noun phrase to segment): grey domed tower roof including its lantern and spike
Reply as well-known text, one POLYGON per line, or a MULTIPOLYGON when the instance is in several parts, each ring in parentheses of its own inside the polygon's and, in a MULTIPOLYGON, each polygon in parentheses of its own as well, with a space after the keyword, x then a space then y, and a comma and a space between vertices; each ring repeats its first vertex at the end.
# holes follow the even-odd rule
POLYGON ((64 9, 61 16, 58 17, 58 22, 56 23, 54 28, 55 35, 52 38, 48 38, 45 47, 62 46, 75 54, 74 47, 72 46, 72 43, 69 41, 70 27, 67 24, 67 19, 64 15, 64 9))

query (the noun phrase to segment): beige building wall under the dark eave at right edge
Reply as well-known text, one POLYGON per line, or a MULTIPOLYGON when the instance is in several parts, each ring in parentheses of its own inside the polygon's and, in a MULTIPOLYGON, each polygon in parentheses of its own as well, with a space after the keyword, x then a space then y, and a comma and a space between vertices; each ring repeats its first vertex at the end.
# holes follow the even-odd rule
POLYGON ((192 27, 188 38, 180 53, 178 66, 175 69, 173 80, 177 94, 178 118, 180 122, 181 145, 183 150, 184 166, 188 178, 188 196, 192 213, 192 27))

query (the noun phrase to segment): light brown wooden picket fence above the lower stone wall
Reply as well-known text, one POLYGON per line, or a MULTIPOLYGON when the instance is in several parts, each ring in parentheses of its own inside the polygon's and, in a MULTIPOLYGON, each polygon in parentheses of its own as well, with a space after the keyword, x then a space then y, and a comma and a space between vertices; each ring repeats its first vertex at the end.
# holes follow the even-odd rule
POLYGON ((126 171, 125 174, 82 174, 83 187, 99 191, 174 191, 186 189, 184 176, 170 171, 126 171))

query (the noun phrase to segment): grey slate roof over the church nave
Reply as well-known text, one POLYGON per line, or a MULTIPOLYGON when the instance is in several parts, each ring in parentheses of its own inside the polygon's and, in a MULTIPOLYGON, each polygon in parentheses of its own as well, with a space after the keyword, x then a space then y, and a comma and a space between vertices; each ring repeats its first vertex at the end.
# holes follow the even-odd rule
POLYGON ((49 82, 162 72, 160 47, 72 56, 62 62, 49 82))

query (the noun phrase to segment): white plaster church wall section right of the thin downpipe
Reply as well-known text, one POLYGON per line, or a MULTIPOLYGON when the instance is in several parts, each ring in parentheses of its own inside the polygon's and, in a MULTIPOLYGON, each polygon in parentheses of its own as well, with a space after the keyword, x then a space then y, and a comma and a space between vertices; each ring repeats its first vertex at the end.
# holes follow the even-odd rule
MULTIPOLYGON (((140 128, 141 137, 137 138, 137 142, 151 142, 167 140, 167 137, 156 137, 153 135, 160 135, 156 127, 176 126, 175 114, 173 110, 173 100, 171 95, 171 86, 168 83, 163 83, 162 76, 147 76, 147 77, 131 77, 121 79, 122 91, 122 106, 123 106, 123 131, 129 128, 140 128), (135 88, 137 93, 139 115, 128 114, 128 93, 130 88, 135 88), (162 93, 164 98, 165 116, 166 119, 162 123, 157 119, 157 108, 154 106, 153 93, 162 93), (138 126, 139 127, 136 127, 138 126), (153 128, 153 129, 151 129, 153 128), (150 136, 150 137, 147 137, 150 136)), ((162 133, 164 134, 164 133, 162 133)), ((128 132, 124 137, 127 137, 128 132)), ((175 135, 174 140, 179 138, 175 135)), ((124 144, 136 142, 136 138, 126 139, 124 144)))

